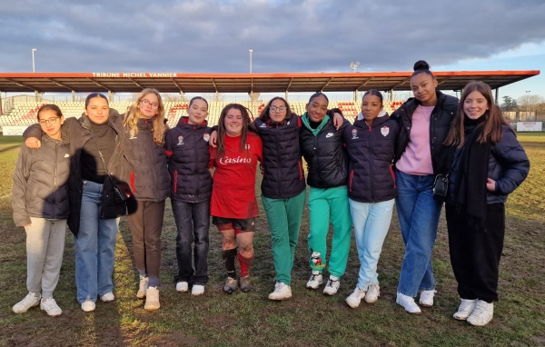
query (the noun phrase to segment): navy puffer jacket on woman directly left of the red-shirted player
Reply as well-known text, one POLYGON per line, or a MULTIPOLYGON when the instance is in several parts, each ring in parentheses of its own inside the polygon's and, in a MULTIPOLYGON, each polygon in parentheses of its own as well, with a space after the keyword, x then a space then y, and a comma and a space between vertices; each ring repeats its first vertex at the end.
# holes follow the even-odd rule
POLYGON ((208 171, 210 127, 188 123, 188 117, 165 135, 164 150, 171 178, 171 199, 183 203, 210 200, 212 175, 208 171))

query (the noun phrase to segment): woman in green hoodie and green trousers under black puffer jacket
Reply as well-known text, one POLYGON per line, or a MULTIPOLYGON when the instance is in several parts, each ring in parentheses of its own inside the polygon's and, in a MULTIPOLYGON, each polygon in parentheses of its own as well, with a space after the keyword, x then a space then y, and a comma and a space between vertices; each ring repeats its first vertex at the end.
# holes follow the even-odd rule
POLYGON ((334 295, 346 269, 352 235, 352 217, 347 196, 348 160, 342 144, 342 132, 350 123, 344 120, 339 130, 326 117, 329 100, 325 94, 312 94, 302 115, 299 135, 302 155, 308 165, 310 228, 309 263, 312 275, 307 288, 322 284, 325 268, 326 239, 330 220, 333 224, 330 278, 323 293, 334 295))

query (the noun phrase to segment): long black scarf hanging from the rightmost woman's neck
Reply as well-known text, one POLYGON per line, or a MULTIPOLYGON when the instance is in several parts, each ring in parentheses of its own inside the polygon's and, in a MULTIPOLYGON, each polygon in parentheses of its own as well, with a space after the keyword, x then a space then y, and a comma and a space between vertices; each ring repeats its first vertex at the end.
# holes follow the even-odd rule
POLYGON ((458 193, 456 205, 468 216, 468 224, 475 230, 484 231, 486 222, 486 181, 489 171, 490 142, 481 144, 477 141, 482 134, 479 119, 464 117, 465 142, 458 158, 459 173, 456 180, 458 193))

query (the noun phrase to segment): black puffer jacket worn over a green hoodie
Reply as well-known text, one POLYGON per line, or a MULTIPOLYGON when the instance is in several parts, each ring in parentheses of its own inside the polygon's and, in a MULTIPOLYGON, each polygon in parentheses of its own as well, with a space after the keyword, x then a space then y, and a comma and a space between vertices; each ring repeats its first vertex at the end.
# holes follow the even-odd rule
POLYGON ((345 185, 348 177, 348 159, 342 144, 342 132, 350 125, 344 120, 341 128, 335 130, 332 118, 327 117, 317 135, 305 124, 308 114, 302 115, 299 145, 307 162, 307 183, 314 188, 332 188, 345 185), (305 118, 306 117, 306 118, 305 118))

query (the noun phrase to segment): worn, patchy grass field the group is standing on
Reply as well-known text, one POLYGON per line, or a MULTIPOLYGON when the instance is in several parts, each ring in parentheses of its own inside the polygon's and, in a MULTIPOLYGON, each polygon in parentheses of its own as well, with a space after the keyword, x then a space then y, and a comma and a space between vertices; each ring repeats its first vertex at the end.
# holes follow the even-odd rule
POLYGON ((379 263, 381 298, 374 304, 362 302, 355 310, 344 302, 357 282, 359 269, 353 240, 347 272, 337 295, 326 297, 322 291, 304 288, 310 273, 306 213, 293 269, 292 300, 267 300, 274 285, 274 269, 264 213, 258 218, 255 233, 253 292, 223 294, 221 240, 214 227, 206 292, 201 297, 176 292, 175 225, 167 208, 160 310, 145 312, 144 302, 135 297, 138 283, 131 234, 122 219, 116 248, 114 302, 97 302, 96 311, 91 313, 80 309, 75 300, 74 240, 67 233, 61 279, 54 292, 63 314, 50 318, 39 308, 15 314, 12 306, 26 294, 25 231, 15 227, 10 201, 11 175, 22 140, 0 136, 0 346, 545 345, 545 134, 519 134, 519 139, 530 156, 530 176, 507 203, 500 302, 495 305, 494 320, 477 328, 451 318, 459 297, 449 261, 444 217, 433 253, 438 281, 434 307, 413 316, 395 303, 403 255, 395 214, 379 263))

